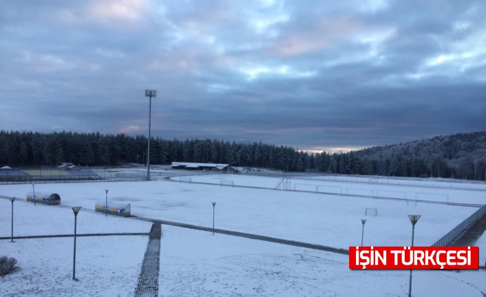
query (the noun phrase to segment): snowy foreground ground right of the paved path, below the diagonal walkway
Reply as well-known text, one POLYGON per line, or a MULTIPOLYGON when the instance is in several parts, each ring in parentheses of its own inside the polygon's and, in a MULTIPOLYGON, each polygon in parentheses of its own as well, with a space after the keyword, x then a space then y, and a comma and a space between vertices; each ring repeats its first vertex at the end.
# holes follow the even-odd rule
MULTIPOLYGON (((406 296, 410 274, 350 270, 340 254, 171 226, 165 227, 161 261, 159 296, 173 297, 406 296)), ((485 277, 478 271, 416 270, 413 296, 480 297, 485 277)))

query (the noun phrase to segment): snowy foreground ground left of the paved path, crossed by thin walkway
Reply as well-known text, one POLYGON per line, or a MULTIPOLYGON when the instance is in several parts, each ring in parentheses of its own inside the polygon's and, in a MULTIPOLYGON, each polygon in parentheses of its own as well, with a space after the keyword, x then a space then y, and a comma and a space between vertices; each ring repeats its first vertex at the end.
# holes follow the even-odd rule
MULTIPOLYGON (((5 193, 5 188, 2 189, 5 193)), ((0 199, 0 255, 18 260, 19 271, 0 278, 0 296, 133 296, 148 236, 76 238, 76 278, 72 280, 74 240, 14 239, 10 200, 0 199)), ((81 209, 77 234, 150 231, 151 223, 105 217, 81 209)), ((74 233, 71 208, 14 202, 14 236, 74 233)))

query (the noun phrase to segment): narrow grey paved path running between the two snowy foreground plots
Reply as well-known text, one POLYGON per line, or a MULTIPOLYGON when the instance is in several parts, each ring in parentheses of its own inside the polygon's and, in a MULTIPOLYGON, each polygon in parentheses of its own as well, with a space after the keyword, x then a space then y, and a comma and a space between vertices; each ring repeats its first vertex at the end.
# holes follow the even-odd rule
POLYGON ((138 276, 138 284, 135 289, 135 297, 157 297, 158 276, 160 267, 160 236, 162 227, 154 223, 149 234, 149 244, 145 251, 142 269, 138 276))

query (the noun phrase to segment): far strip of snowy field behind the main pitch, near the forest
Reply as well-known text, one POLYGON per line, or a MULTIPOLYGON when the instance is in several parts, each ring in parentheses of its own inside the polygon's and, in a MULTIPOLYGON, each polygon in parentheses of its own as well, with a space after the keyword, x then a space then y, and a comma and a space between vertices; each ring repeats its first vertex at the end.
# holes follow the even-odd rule
POLYGON ((443 179, 364 178, 350 176, 297 176, 297 178, 261 176, 190 176, 173 177, 173 181, 213 183, 247 187, 278 188, 322 194, 348 194, 382 198, 400 198, 410 201, 438 201, 451 203, 486 203, 486 183, 446 182, 443 179))

